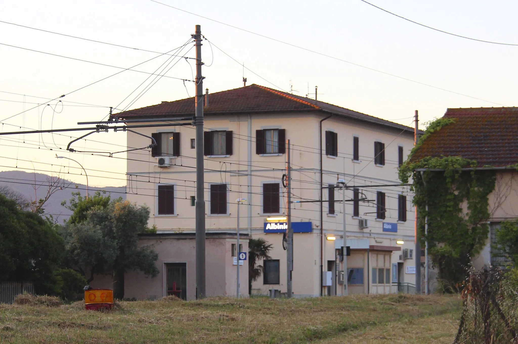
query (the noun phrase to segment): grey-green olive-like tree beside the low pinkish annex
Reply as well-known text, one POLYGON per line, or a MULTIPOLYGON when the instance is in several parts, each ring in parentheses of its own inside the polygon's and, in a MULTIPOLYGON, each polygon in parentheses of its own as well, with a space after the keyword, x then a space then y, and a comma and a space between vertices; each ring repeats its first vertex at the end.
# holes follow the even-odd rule
MULTIPOLYGON (((88 201, 77 196, 70 200, 73 216, 62 228, 67 261, 91 282, 96 274, 113 275, 113 296, 124 297, 124 274, 141 271, 155 277, 157 253, 151 246, 138 246, 138 233, 150 231, 147 227, 149 208, 130 201, 100 194, 88 201)), ((152 229, 151 229, 152 230, 152 229)))

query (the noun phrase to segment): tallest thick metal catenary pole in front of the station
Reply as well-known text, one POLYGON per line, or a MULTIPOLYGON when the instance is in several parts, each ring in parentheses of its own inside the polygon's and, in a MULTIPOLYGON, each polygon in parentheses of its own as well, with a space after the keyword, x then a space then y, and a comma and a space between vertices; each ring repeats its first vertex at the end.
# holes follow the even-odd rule
MULTIPOLYGON (((203 160, 203 77, 202 77, 202 30, 196 25, 194 46, 196 47, 196 298, 205 294, 205 198, 203 160)), ((239 248, 238 248, 239 251, 239 248)), ((239 262, 238 262, 239 264, 239 262)))

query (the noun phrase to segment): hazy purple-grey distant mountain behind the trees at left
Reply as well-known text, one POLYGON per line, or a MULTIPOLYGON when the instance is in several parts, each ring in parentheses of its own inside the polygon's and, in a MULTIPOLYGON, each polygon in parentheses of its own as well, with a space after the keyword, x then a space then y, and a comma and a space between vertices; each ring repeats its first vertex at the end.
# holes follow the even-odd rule
MULTIPOLYGON (((44 198, 49 188, 49 180, 52 178, 49 175, 42 173, 28 173, 23 171, 5 171, 0 172, 0 187, 7 186, 11 190, 22 195, 28 202, 40 198, 44 198), (36 191, 34 186, 36 185, 36 191), (36 195, 35 195, 36 192, 36 195)), ((54 180, 56 177, 53 177, 54 180)), ((61 202, 68 201, 72 196, 72 192, 80 191, 82 196, 87 193, 87 187, 83 184, 76 184, 70 181, 64 180, 60 190, 57 190, 50 199, 45 203, 45 214, 54 216, 59 223, 63 220, 68 219, 72 214, 67 208, 61 205, 61 202), (77 185, 77 188, 76 188, 77 185)), ((88 193, 93 195, 95 191, 106 191, 106 195, 110 195, 112 198, 122 197, 126 198, 125 187, 105 187, 105 188, 88 188, 88 193)), ((68 202, 67 202, 68 203, 68 202)))

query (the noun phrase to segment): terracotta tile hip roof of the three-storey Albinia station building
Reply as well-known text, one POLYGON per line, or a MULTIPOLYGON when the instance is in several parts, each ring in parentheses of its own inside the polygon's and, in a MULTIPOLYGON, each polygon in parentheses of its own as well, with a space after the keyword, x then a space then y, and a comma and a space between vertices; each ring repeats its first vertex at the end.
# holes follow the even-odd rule
MULTIPOLYGON (((204 107, 204 115, 321 111, 413 132, 410 127, 385 119, 256 84, 211 93, 208 98, 209 106, 204 107)), ((121 119, 190 116, 194 115, 194 97, 163 101, 160 104, 128 110, 116 115, 121 119)))

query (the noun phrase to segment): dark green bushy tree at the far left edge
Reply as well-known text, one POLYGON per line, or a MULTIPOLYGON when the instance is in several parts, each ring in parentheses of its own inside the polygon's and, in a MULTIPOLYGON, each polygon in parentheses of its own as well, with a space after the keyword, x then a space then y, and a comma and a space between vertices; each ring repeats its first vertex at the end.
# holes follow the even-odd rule
POLYGON ((55 271, 64 244, 52 224, 0 195, 0 280, 33 281, 36 293, 61 293, 55 271))

